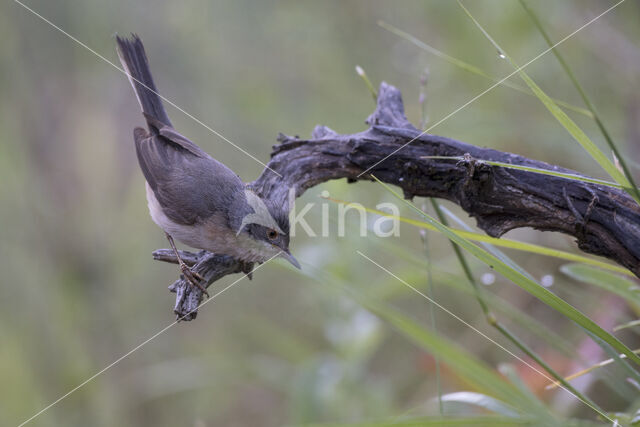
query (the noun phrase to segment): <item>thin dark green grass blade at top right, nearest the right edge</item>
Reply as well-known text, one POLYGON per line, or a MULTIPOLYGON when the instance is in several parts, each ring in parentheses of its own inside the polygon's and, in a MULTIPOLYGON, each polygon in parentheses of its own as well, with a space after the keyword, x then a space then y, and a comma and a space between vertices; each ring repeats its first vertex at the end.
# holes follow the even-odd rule
MULTIPOLYGON (((551 41, 551 38, 549 37, 547 32, 544 30, 544 27, 542 26, 542 22, 540 22, 540 20, 538 19, 538 16, 533 12, 531 8, 529 8, 529 6, 526 4, 524 0, 520 0, 520 4, 522 5, 523 9, 527 12, 529 17, 533 21, 533 23, 536 25, 536 27, 538 28, 538 31, 540 31, 540 34, 542 34, 542 37, 544 38, 544 40, 547 42, 547 44, 550 47, 552 47, 553 42, 551 41)), ((640 192, 638 192, 638 188, 636 187, 635 182, 633 182, 633 175, 631 174, 629 168, 627 167, 627 163, 624 160, 624 156, 621 155, 616 144, 613 142, 613 139, 611 138, 609 131, 604 126, 604 123, 600 119, 600 115, 596 111, 594 105, 591 103, 591 100, 587 96, 587 93, 580 85, 580 82, 578 82, 578 79, 576 78, 575 74, 573 74, 573 71, 571 71, 571 68, 569 67, 569 64, 567 63, 567 61, 565 61, 563 56, 560 54, 560 51, 558 49, 553 49, 553 54, 558 59, 558 62, 560 62, 560 65, 562 65, 562 68, 569 76, 569 79, 571 80, 571 82, 573 83, 573 86, 576 88, 576 90, 580 94, 580 97, 582 97, 582 100, 584 101, 585 105, 587 106, 589 111, 591 111, 593 115, 593 119, 598 125, 600 132, 602 132, 602 136, 604 136, 604 139, 607 142, 607 145, 609 145, 609 148, 613 152, 614 156, 616 156, 616 158, 618 159, 618 162, 620 163, 620 166, 622 168, 622 171, 624 172, 625 177, 631 183, 631 188, 636 196, 636 200, 640 200, 640 192)))

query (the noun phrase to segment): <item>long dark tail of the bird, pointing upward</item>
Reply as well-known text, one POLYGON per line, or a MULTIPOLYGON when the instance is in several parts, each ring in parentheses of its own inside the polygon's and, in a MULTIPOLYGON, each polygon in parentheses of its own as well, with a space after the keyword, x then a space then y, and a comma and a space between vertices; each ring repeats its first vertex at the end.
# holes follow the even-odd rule
POLYGON ((151 77, 149 61, 144 52, 142 40, 136 34, 132 34, 131 39, 117 36, 116 41, 118 42, 118 57, 128 74, 131 86, 133 86, 140 103, 140 108, 142 108, 146 116, 151 116, 151 119, 155 119, 149 120, 147 118, 150 128, 157 127, 157 122, 173 127, 162 105, 162 99, 158 95, 153 77, 151 77))

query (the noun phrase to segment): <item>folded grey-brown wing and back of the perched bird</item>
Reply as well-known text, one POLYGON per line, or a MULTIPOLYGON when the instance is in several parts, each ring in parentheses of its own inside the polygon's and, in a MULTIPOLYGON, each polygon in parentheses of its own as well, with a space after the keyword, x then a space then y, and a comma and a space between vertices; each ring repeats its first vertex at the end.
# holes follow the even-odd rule
POLYGON ((174 222, 194 224, 226 214, 244 188, 231 169, 171 127, 160 126, 158 135, 136 128, 134 140, 142 173, 174 222))

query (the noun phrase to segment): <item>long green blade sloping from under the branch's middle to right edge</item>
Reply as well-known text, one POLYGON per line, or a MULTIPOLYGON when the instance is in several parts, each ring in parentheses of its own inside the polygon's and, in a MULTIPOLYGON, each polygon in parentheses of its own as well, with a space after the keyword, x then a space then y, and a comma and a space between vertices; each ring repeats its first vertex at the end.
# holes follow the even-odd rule
POLYGON ((430 215, 425 214, 420 209, 415 207, 412 203, 404 200, 402 196, 396 193, 393 189, 391 189, 388 185, 378 180, 375 176, 372 177, 378 181, 383 187, 385 187, 389 192, 391 192, 398 200, 401 200, 403 203, 406 203, 411 207, 415 212, 421 215, 424 219, 427 220, 432 226, 434 226, 437 231, 444 234, 449 240, 457 243, 459 246, 470 252, 473 256, 478 258, 480 261, 487 264, 489 267, 495 269, 498 273, 502 274, 507 279, 511 280, 513 283, 529 292, 531 295, 538 298, 543 303, 547 304, 549 307, 558 311, 562 315, 567 318, 573 320, 579 326, 591 332, 593 335, 597 336, 619 353, 626 354, 630 360, 633 360, 634 363, 640 365, 640 357, 633 353, 630 348, 628 348, 625 344, 623 344, 620 340, 618 340, 613 335, 609 334, 607 331, 602 329, 597 323, 591 320, 589 317, 585 316, 580 310, 573 307, 571 304, 564 301, 562 298, 558 297, 553 292, 539 285, 535 281, 529 279, 525 275, 520 272, 514 270, 509 267, 502 261, 500 261, 497 257, 485 251, 484 249, 476 246, 471 243, 469 240, 459 236, 453 230, 448 227, 445 227, 440 222, 436 221, 430 215))

